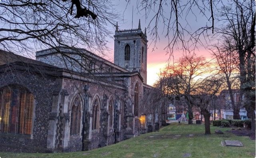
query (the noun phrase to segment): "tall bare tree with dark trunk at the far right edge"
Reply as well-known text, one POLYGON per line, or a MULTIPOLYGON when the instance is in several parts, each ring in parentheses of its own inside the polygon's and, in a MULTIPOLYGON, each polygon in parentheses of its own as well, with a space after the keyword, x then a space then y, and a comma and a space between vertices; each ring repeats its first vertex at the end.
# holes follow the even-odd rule
POLYGON ((252 119, 252 131, 255 131, 255 1, 233 0, 223 4, 219 13, 219 20, 224 25, 217 30, 217 35, 229 40, 229 47, 239 61, 239 100, 244 95, 244 107, 252 119))

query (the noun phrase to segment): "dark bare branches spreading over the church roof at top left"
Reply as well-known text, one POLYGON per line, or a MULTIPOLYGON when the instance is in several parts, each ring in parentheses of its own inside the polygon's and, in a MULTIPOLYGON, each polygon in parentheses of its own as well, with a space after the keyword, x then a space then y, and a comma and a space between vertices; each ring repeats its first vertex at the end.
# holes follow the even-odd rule
POLYGON ((29 55, 56 46, 103 52, 111 36, 107 26, 117 19, 109 0, 1 0, 0 49, 29 55))

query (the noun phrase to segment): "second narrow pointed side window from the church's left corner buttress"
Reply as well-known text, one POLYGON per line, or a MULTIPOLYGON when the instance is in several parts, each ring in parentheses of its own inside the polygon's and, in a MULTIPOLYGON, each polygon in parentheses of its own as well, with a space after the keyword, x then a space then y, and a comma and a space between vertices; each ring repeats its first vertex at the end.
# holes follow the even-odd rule
POLYGON ((96 98, 93 102, 92 108, 92 129, 99 129, 99 99, 96 98))

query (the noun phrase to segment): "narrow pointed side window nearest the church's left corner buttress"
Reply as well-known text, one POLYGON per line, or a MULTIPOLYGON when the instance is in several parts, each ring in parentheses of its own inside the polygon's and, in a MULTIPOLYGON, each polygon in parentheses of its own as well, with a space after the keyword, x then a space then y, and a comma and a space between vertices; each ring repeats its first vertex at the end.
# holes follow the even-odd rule
POLYGON ((72 103, 71 119, 70 119, 70 135, 79 134, 81 120, 81 107, 78 97, 72 103))

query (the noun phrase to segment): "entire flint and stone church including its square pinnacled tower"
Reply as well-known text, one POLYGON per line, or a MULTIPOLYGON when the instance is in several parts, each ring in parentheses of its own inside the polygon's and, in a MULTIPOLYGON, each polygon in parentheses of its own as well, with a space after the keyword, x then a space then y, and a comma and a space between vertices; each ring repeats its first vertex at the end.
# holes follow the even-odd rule
POLYGON ((0 50, 0 151, 91 150, 159 129, 145 100, 146 30, 116 25, 114 37, 114 63, 80 48, 36 60, 0 50))

